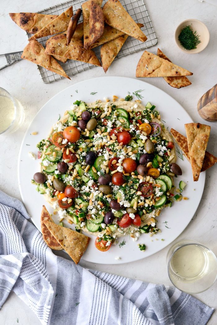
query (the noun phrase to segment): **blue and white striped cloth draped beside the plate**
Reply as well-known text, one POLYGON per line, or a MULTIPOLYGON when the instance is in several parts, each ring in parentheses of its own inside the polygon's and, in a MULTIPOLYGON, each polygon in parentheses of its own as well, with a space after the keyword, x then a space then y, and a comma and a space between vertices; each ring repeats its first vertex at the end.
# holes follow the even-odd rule
POLYGON ((213 309, 174 287, 86 270, 54 255, 0 191, 0 307, 13 290, 50 325, 204 325, 213 309))

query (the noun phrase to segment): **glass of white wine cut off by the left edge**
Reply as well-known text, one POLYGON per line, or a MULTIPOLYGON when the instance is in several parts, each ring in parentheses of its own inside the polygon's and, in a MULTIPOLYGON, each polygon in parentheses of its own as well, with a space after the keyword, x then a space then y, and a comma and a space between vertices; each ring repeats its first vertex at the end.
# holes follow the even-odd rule
POLYGON ((0 135, 16 131, 23 121, 23 108, 7 90, 0 87, 0 135))

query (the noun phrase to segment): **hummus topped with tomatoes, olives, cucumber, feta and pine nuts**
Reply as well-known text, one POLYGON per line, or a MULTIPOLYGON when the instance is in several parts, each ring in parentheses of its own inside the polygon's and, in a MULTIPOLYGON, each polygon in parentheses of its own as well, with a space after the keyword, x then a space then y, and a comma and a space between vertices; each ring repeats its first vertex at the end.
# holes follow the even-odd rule
MULTIPOLYGON (((171 206, 174 143, 155 106, 132 101, 76 100, 37 145, 41 171, 32 181, 77 231, 97 236, 107 251, 119 237, 156 234, 161 209, 171 206)), ((185 186, 180 182, 180 191, 185 186)))

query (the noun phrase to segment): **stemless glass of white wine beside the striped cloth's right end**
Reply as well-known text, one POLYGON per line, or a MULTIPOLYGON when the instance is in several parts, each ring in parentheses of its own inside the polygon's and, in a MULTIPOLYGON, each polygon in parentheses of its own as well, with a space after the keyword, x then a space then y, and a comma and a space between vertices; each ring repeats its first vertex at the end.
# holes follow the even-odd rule
POLYGON ((172 284, 187 293, 209 289, 217 279, 217 258, 206 246, 193 240, 180 240, 167 254, 172 284))

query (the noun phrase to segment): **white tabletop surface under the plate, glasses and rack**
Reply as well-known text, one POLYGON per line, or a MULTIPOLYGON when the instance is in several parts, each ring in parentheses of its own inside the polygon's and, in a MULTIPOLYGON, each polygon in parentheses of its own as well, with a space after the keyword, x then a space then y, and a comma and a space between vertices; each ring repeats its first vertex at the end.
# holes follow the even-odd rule
MULTIPOLYGON (((1 29, 1 53, 21 51, 27 44, 25 32, 16 26, 8 16, 8 12, 30 11, 36 12, 42 8, 58 4, 60 0, 10 0, 1 1, 0 29, 1 29)), ((175 63, 194 72, 191 77, 192 85, 173 89, 162 78, 149 78, 145 80, 164 90, 175 98, 192 116, 195 122, 204 121, 197 113, 197 100, 208 89, 216 84, 216 14, 217 7, 208 3, 200 3, 197 0, 147 0, 147 8, 151 15, 154 28, 158 37, 158 45, 168 57, 175 63), (207 48, 199 54, 184 54, 174 41, 176 26, 184 19, 195 18, 202 20, 210 31, 210 42, 207 48)), ((156 52, 157 46, 151 52, 156 52)), ((109 68, 107 75, 135 77, 136 65, 141 56, 137 53, 115 61, 109 68), (130 67, 130 68, 129 68, 130 67)), ((0 61, 0 66, 3 62, 0 61)), ((93 77, 104 76, 100 68, 80 73, 72 78, 72 81, 61 80, 51 85, 45 85, 40 80, 37 67, 28 61, 20 61, 15 65, 0 71, 0 86, 7 89, 22 103, 25 119, 19 131, 14 134, 0 136, 0 189, 20 199, 17 180, 17 159, 20 144, 25 130, 36 112, 56 93, 76 82, 93 77)), ((117 85, 118 86, 118 85, 117 85)), ((172 108, 171 108, 172 111, 172 108)), ((217 155, 215 143, 217 141, 217 123, 210 123, 211 136, 208 149, 217 155)), ((217 168, 212 167, 207 172, 204 194, 195 216, 178 239, 191 238, 207 245, 217 254, 216 246, 216 180, 217 168)), ((126 277, 137 278, 155 283, 170 284, 166 254, 168 248, 134 263, 123 265, 101 265, 81 261, 81 265, 112 272, 126 277)), ((217 308, 217 283, 209 290, 195 295, 207 305, 217 308)), ((11 293, 0 311, 0 324, 12 325, 40 324, 33 312, 11 293)), ((217 323, 217 313, 212 315, 209 325, 217 323)))

